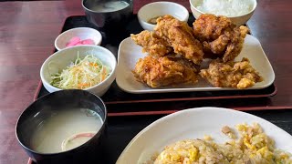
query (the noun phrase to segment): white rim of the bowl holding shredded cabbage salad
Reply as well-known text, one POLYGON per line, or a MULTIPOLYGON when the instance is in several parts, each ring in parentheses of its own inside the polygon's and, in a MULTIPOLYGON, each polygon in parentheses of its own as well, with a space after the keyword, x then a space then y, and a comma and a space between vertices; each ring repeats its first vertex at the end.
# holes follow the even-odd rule
MULTIPOLYGON (((92 45, 80 45, 80 46, 92 46, 92 45)), ((64 48, 64 49, 61 49, 61 50, 59 50, 59 51, 57 51, 56 53, 54 53, 53 55, 51 55, 51 56, 49 56, 49 57, 47 57, 47 59, 45 60, 45 62, 43 63, 43 65, 42 65, 42 67, 40 68, 40 77, 41 77, 41 79, 42 79, 42 82, 43 83, 46 83, 48 86, 50 86, 50 87, 52 87, 52 88, 54 88, 54 89, 56 89, 56 90, 62 90, 62 88, 58 88, 58 87, 54 87, 54 86, 52 86, 49 82, 47 82, 47 79, 43 76, 43 71, 44 71, 44 66, 45 66, 45 63, 47 63, 47 61, 52 57, 52 56, 55 56, 56 54, 58 54, 58 53, 61 53, 61 52, 63 52, 63 51, 66 51, 66 50, 68 50, 68 49, 70 49, 70 48, 78 48, 79 46, 71 46, 71 47, 67 47, 67 48, 64 48)), ((108 77, 106 77, 106 79, 104 79, 103 81, 101 81, 99 84, 97 84, 97 85, 94 85, 94 86, 92 86, 92 87, 87 87, 87 88, 84 88, 84 89, 82 89, 82 90, 87 90, 87 91, 89 91, 89 89, 91 89, 91 88, 94 88, 94 87, 98 87, 98 86, 101 86, 103 83, 105 83, 111 76, 113 76, 113 73, 114 73, 114 70, 115 70, 115 68, 117 67, 117 60, 116 60, 116 57, 110 52, 110 50, 109 49, 107 49, 107 48, 105 48, 105 47, 103 47, 103 46, 98 46, 99 48, 101 48, 101 49, 103 49, 103 50, 105 50, 105 51, 107 51, 109 54, 109 56, 111 56, 111 57, 113 57, 115 60, 113 61, 114 62, 114 67, 111 67, 111 72, 110 72, 110 76, 108 76, 108 77)))

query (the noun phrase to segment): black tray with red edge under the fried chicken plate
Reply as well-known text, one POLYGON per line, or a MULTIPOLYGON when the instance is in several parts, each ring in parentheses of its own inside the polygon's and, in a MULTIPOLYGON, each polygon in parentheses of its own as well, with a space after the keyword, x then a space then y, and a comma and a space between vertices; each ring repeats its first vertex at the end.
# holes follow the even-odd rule
MULTIPOLYGON (((194 21, 193 15, 190 15, 189 24, 191 25, 194 21)), ((85 15, 72 15, 69 16, 65 22, 61 32, 74 27, 92 27, 87 21, 85 15)), ((120 41, 124 38, 129 37, 130 34, 137 34, 143 29, 139 24, 137 15, 132 15, 128 26, 117 26, 117 30, 111 32, 101 32, 102 43, 101 46, 105 46, 117 56, 120 41)), ((55 49, 55 51, 57 51, 55 49)), ((46 95, 48 92, 40 82, 37 90, 35 99, 46 95)), ((168 101, 195 101, 195 100, 208 100, 208 99, 231 99, 231 98, 246 98, 246 97, 272 97, 276 95, 276 86, 272 84, 270 87, 263 89, 252 89, 252 90, 224 90, 224 91, 195 91, 195 92, 176 92, 176 93, 155 93, 155 94, 130 94, 124 92, 114 82, 108 92, 102 96, 102 100, 107 105, 116 104, 132 104, 132 103, 151 103, 151 102, 168 102, 168 101)), ((109 111, 109 114, 111 111, 109 111)), ((165 114, 167 112, 156 111, 157 114, 165 114)), ((119 116, 122 113, 119 113, 119 116)))

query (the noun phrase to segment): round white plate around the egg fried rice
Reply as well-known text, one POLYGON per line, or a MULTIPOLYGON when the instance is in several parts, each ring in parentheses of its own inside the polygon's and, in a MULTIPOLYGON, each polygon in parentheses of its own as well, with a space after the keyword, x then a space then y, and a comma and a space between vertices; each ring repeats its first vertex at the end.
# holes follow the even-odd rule
POLYGON ((265 133, 276 141, 276 148, 292 153, 292 136, 263 118, 227 108, 192 108, 160 118, 141 130, 122 151, 117 164, 143 163, 154 153, 175 141, 211 135, 215 142, 229 140, 221 132, 228 125, 259 123, 265 133))

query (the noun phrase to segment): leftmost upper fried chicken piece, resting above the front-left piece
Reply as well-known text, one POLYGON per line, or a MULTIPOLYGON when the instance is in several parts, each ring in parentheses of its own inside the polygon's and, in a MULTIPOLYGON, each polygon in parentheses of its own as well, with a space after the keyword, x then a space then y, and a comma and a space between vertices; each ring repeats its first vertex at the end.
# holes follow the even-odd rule
POLYGON ((143 52, 151 56, 165 56, 173 51, 172 46, 161 37, 150 31, 142 31, 137 35, 130 35, 130 38, 139 46, 142 46, 143 52))

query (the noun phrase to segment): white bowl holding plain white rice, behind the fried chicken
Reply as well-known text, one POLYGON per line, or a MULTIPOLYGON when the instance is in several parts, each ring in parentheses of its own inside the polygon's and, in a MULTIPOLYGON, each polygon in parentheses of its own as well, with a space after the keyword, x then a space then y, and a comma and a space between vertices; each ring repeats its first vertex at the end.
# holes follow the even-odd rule
MULTIPOLYGON (((191 10, 193 13, 193 16, 197 19, 200 15, 205 14, 202 11, 198 10, 196 8, 196 6, 198 5, 198 3, 202 2, 202 0, 190 0, 190 5, 191 5, 191 10)), ((250 19, 250 17, 254 14, 255 12, 255 8, 256 8, 256 0, 253 0, 253 9, 245 14, 245 15, 239 15, 239 16, 227 16, 230 18, 230 20, 236 25, 236 26, 241 26, 241 25, 245 25, 245 23, 250 19)), ((213 13, 211 13, 213 14, 213 13)))

